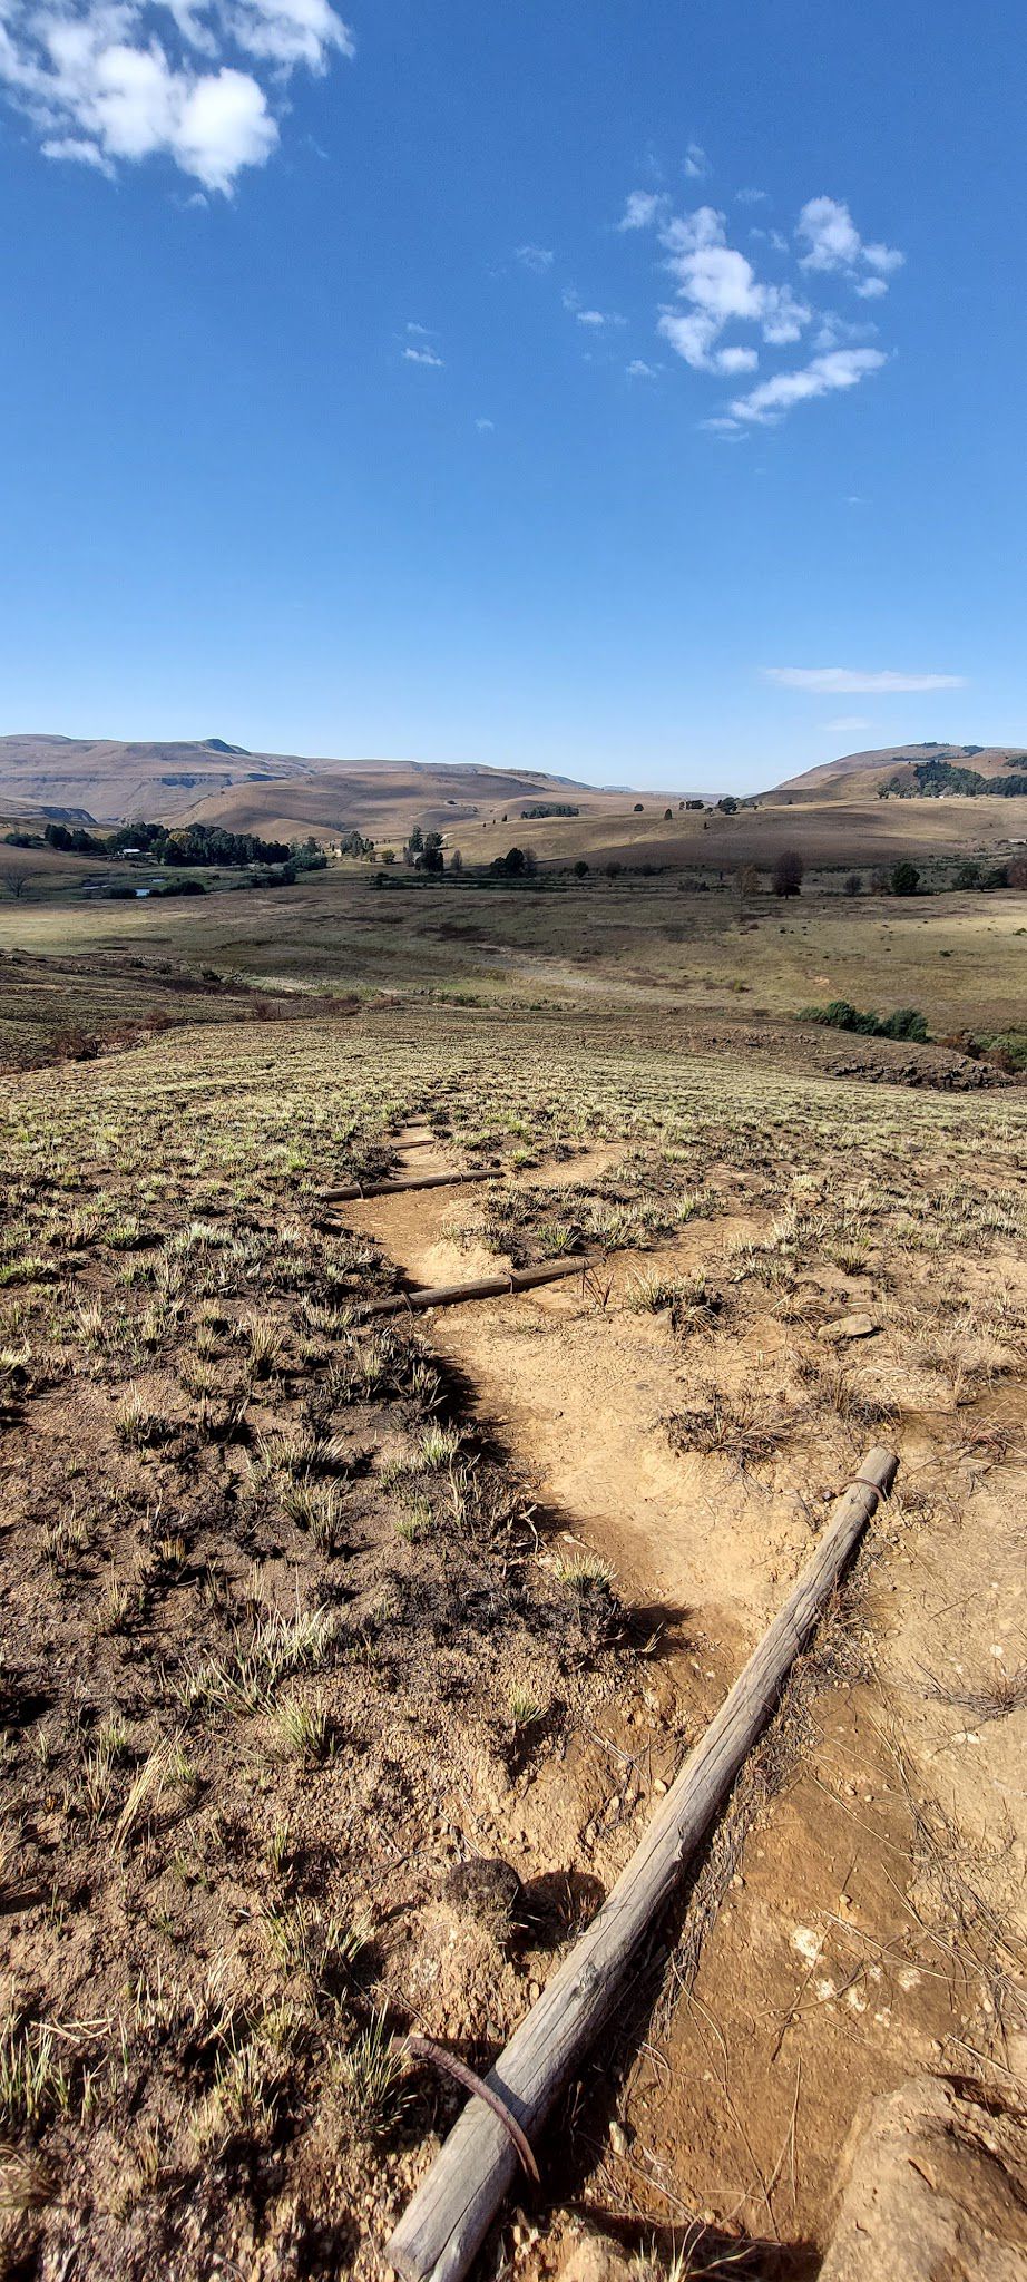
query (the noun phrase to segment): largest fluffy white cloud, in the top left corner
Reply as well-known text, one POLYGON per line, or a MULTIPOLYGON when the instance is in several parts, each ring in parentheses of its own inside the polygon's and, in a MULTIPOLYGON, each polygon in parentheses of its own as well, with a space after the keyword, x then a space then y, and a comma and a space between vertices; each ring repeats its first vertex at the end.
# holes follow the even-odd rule
POLYGON ((9 0, 0 23, 0 87, 34 123, 41 151, 103 173, 169 157, 203 189, 231 192, 262 167, 278 123, 272 71, 326 71, 354 41, 329 0, 9 0))

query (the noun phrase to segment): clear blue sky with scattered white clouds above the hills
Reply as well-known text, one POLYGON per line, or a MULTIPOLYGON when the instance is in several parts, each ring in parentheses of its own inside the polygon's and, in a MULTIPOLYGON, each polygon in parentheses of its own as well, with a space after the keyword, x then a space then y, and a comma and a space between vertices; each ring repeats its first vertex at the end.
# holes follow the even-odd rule
POLYGON ((1016 11, 342 16, 0 0, 0 726, 1027 744, 1016 11))

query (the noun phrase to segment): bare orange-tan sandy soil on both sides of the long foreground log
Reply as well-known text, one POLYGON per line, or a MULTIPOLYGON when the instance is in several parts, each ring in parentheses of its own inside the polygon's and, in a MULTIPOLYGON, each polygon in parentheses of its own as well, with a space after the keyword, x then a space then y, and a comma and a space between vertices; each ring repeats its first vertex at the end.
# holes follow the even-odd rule
MULTIPOLYGON (((415 1162, 424 1171, 427 1152, 415 1162)), ((612 1162, 605 1150, 543 1180, 587 1180, 612 1162)), ((456 1235, 472 1200, 383 1198, 351 1219, 413 1285, 495 1271, 495 1253, 456 1235)), ((698 1221, 660 1246, 660 1273, 723 1278, 730 1246, 751 1235, 753 1216, 737 1212, 698 1221)), ((596 1285, 571 1280, 516 1303, 440 1310, 431 1340, 545 1515, 609 1559, 618 1588, 646 1609, 669 1648, 678 1737, 692 1739, 874 1435, 858 1419, 842 1433, 817 1419, 806 1463, 801 1433, 771 1465, 676 1454, 660 1422, 698 1367, 710 1374, 710 1353, 678 1342, 666 1314, 625 1308, 639 1269, 650 1260, 618 1255, 600 1305, 596 1285)), ((1022 1271, 1018 1294, 1022 1305, 1022 1271)), ((717 1344, 719 1387, 785 1403, 817 1303, 840 1314, 867 1298, 874 1278, 838 1271, 815 1276, 799 1321, 781 1321, 765 1296, 717 1344)), ((879 1303, 881 1292, 874 1314, 879 1303)), ((591 2063, 568 2156, 593 2216, 742 2227, 762 2243, 767 2275, 819 2264, 865 2099, 940 2067, 1011 2090, 1027 2061, 1027 1691, 1016 1689, 1027 1470, 1022 1442, 1009 1454, 1004 1442, 1018 1399, 938 1408, 938 1381, 899 1328, 870 1346, 865 1387, 906 1397, 899 1497, 872 1529, 847 1625, 785 1714, 781 1764, 767 1762, 762 1778, 769 1803, 749 1835, 737 1816, 737 1860, 698 1969, 692 1949, 671 1956, 648 2033, 639 2042, 634 2020, 616 2056, 591 2063), (959 1707, 961 1686, 972 1696, 995 1673, 1013 1684, 1004 1714, 990 1716, 986 1698, 984 1718, 959 1707), (616 2145, 600 2145, 612 2109, 616 2145)), ((555 2241, 559 2225, 536 2248, 543 2266, 555 2241)))

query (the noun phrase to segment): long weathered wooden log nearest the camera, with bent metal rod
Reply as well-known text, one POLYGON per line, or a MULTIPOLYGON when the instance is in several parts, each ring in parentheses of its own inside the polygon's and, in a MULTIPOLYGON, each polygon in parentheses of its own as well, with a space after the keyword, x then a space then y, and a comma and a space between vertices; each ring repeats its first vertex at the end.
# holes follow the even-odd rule
MULTIPOLYGON (((616 2004, 637 1942, 660 1917, 767 1725, 794 1657, 895 1481, 897 1463, 888 1449, 867 1454, 835 1502, 828 1529, 799 1581, 703 1741, 685 1759, 607 1901, 488 2072, 486 2083, 511 2109, 527 2138, 616 2004)), ((516 2163, 502 2125, 472 2099, 386 2245, 386 2259, 404 2282, 461 2282, 511 2186, 516 2163)))

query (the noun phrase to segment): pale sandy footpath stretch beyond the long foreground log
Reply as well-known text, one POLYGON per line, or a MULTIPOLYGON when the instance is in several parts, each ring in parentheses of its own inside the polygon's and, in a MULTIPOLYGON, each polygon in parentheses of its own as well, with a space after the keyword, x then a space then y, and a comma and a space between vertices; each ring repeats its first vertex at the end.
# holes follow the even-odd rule
MULTIPOLYGON (((404 1150, 404 1143, 399 1143, 404 1150)), ((580 1180, 621 1148, 548 1166, 545 1182, 580 1180)), ((418 1173, 445 1171, 440 1150, 404 1155, 418 1173)), ((495 1276, 495 1253, 459 1237, 475 1223, 475 1196, 429 1189, 347 1207, 415 1285, 495 1276)), ((737 1223, 728 1223, 737 1225, 737 1223)), ((680 1276, 723 1248, 723 1228, 696 1223, 660 1246, 660 1269, 680 1276)), ((673 1454, 662 1419, 687 1399, 689 1374, 660 1317, 623 1305, 653 1255, 621 1253, 600 1276, 609 1305, 577 1278, 518 1298, 447 1308, 429 1317, 434 1349, 468 1383, 482 1424, 504 1445, 557 1529, 616 1570, 623 1600, 687 1620, 703 1636, 746 1650, 808 1549, 808 1520, 787 1492, 769 1499, 737 1481, 710 1497, 703 1460, 673 1454)))

